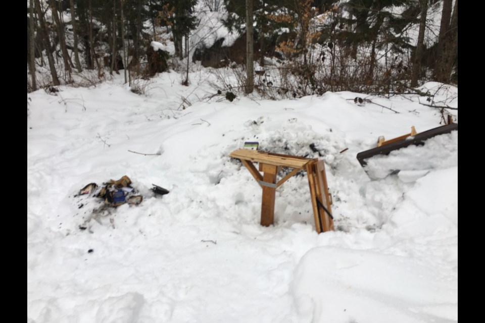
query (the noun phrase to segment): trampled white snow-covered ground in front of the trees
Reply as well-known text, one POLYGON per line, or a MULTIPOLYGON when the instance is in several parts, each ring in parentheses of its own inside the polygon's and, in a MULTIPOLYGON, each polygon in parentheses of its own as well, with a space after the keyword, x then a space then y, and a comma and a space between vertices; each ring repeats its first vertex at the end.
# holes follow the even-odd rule
POLYGON ((437 109, 351 92, 229 102, 209 99, 210 78, 27 95, 28 322, 458 320, 458 132, 390 156, 403 171, 379 180, 356 159, 380 135, 440 126, 437 109), (336 231, 315 232, 304 174, 278 188, 274 226, 261 227, 261 189, 228 157, 245 141, 319 157, 314 144, 336 231), (140 205, 100 211, 75 196, 123 175, 140 205))

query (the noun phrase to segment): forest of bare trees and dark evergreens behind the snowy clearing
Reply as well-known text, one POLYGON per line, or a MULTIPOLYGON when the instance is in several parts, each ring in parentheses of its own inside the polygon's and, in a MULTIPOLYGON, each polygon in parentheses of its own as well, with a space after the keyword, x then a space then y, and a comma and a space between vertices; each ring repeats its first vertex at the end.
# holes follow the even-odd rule
POLYGON ((174 70, 188 85, 197 64, 234 70, 222 90, 272 98, 407 93, 427 81, 457 86, 458 1, 28 2, 28 93, 120 72, 131 86, 174 70))

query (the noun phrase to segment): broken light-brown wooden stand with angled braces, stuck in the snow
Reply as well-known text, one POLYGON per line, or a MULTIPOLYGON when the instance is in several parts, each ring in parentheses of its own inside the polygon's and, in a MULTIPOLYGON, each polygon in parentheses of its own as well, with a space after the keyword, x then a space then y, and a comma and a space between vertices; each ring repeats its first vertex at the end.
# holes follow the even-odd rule
POLYGON ((270 226, 274 221, 274 202, 276 188, 281 186, 290 177, 300 170, 306 170, 310 196, 312 200, 315 228, 318 233, 334 230, 333 217, 331 216, 332 199, 328 193, 325 176, 325 164, 318 158, 310 159, 292 155, 282 155, 269 152, 261 152, 249 149, 237 149, 229 154, 233 158, 241 160, 244 166, 263 189, 261 201, 261 225, 270 226), (259 163, 259 171, 254 166, 259 163), (285 177, 276 181, 276 176, 281 168, 292 168, 285 177), (263 175, 260 174, 263 172, 263 175))

